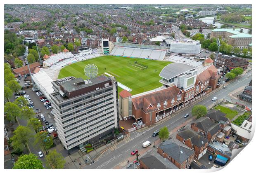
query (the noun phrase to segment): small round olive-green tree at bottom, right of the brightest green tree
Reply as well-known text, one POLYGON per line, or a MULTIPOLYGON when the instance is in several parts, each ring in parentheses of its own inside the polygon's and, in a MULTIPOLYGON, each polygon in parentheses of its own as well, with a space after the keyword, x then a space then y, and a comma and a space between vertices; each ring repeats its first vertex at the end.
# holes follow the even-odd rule
POLYGON ((62 154, 58 153, 56 150, 49 152, 46 156, 46 161, 54 169, 62 169, 66 163, 62 154))

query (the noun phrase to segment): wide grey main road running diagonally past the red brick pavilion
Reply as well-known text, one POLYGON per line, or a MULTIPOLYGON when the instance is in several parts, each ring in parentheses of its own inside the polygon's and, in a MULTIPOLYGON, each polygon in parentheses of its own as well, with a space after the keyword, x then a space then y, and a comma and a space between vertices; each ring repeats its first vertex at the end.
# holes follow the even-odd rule
MULTIPOLYGON (((246 84, 249 84, 250 81, 251 81, 251 71, 248 72, 246 75, 242 76, 241 78, 239 78, 238 80, 232 81, 227 86, 226 89, 220 89, 219 91, 213 94, 210 93, 209 95, 206 95, 197 104, 205 105, 207 107, 213 104, 213 101, 211 101, 211 99, 214 96, 216 96, 218 100, 223 98, 230 100, 230 97, 228 96, 228 94, 231 91, 234 91, 235 89, 241 86, 245 86, 246 84)), ((131 132, 128 142, 123 141, 118 145, 110 148, 109 150, 104 152, 97 160, 95 160, 93 164, 85 166, 83 168, 90 168, 90 169, 114 168, 115 166, 119 165, 121 162, 127 161, 131 157, 130 152, 132 152, 133 150, 135 149, 139 150, 139 154, 140 154, 140 150, 143 150, 143 147, 142 147, 143 142, 149 140, 153 144, 154 141, 158 139, 158 137, 152 137, 152 133, 157 129, 160 129, 163 126, 167 126, 168 130, 171 131, 175 129, 177 126, 180 126, 181 124, 185 123, 187 120, 191 119, 192 118, 191 110, 192 110, 192 106, 178 113, 174 117, 166 120, 162 124, 153 126, 149 129, 146 129, 145 131, 131 132), (187 113, 190 116, 188 118, 184 118, 183 116, 187 113)), ((129 160, 129 162, 131 161, 132 160, 129 160)))

